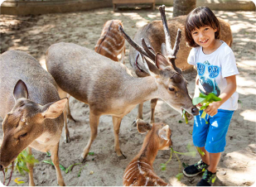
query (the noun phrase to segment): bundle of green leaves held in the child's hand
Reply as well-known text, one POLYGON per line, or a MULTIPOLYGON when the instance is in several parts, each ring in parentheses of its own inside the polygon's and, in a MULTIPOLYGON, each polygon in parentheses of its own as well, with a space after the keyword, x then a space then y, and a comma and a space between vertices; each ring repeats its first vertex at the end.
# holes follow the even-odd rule
MULTIPOLYGON (((197 105, 200 103, 202 106, 200 107, 200 110, 204 110, 209 106, 210 103, 216 102, 216 101, 221 101, 221 98, 217 97, 215 94, 210 93, 210 94, 199 94, 199 97, 193 98, 192 103, 194 105, 197 105)), ((206 113, 205 111, 202 113, 200 116, 201 118, 205 119, 206 113)), ((208 122, 205 120, 205 123, 208 124, 208 122)))

